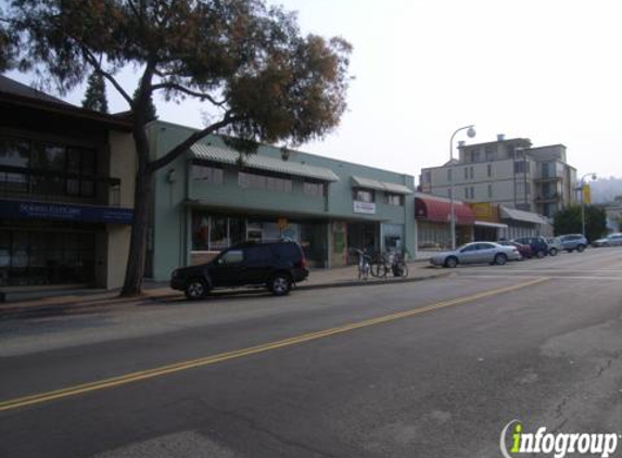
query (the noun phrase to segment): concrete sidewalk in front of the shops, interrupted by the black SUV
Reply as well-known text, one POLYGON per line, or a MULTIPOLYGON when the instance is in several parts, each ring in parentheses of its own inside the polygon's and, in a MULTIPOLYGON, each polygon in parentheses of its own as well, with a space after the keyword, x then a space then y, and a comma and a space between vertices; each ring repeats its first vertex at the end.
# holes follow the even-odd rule
MULTIPOLYGON (((382 283, 406 283, 432 278, 446 277, 449 272, 428 267, 428 263, 419 259, 408 264, 408 278, 375 278, 357 279, 356 266, 335 269, 312 270, 308 280, 295 287, 296 290, 313 290, 326 288, 365 287, 382 283)), ((41 292, 41 295, 46 295, 41 292)), ((118 290, 79 290, 67 292, 66 295, 54 295, 25 301, 0 303, 0 320, 11 318, 43 317, 64 315, 72 311, 109 307, 112 305, 138 305, 155 301, 182 298, 183 293, 168 288, 165 282, 147 282, 140 297, 119 297, 118 290)))

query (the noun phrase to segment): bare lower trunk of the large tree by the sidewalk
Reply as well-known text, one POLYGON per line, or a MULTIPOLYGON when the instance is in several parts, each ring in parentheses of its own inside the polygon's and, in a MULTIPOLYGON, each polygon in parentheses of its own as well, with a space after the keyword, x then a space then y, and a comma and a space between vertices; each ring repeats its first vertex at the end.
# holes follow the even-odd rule
POLYGON ((144 263, 147 259, 147 230, 149 227, 149 201, 152 192, 152 177, 150 170, 139 167, 136 174, 136 188, 134 193, 134 221, 125 283, 122 296, 139 295, 142 291, 144 277, 144 263))

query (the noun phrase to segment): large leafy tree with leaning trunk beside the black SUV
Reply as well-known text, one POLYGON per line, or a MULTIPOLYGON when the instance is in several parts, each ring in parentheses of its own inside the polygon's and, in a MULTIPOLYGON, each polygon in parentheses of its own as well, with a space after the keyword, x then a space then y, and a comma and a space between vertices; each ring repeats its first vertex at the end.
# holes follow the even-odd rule
POLYGON ((320 138, 346 107, 350 43, 303 36, 293 13, 264 0, 12 0, 8 16, 22 58, 40 77, 62 92, 94 69, 131 110, 138 173, 124 295, 141 291, 157 169, 217 131, 245 144, 320 138), (117 78, 128 66, 140 72, 136 98, 117 78), (156 92, 196 98, 215 117, 153 158, 144 127, 156 92))

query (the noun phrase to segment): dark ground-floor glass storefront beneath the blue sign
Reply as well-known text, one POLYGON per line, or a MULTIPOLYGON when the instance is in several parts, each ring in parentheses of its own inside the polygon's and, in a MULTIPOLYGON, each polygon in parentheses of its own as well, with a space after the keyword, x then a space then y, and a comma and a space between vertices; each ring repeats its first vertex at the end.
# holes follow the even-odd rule
POLYGON ((0 229, 0 287, 92 283, 93 232, 0 229))

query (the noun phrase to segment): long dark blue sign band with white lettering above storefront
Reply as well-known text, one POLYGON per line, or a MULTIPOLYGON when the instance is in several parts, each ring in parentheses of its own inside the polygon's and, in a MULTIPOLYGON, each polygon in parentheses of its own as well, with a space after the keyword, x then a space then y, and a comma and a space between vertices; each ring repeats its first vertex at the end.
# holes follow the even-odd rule
POLYGON ((0 201, 0 217, 4 219, 56 219, 129 225, 132 221, 134 211, 77 204, 0 201))

